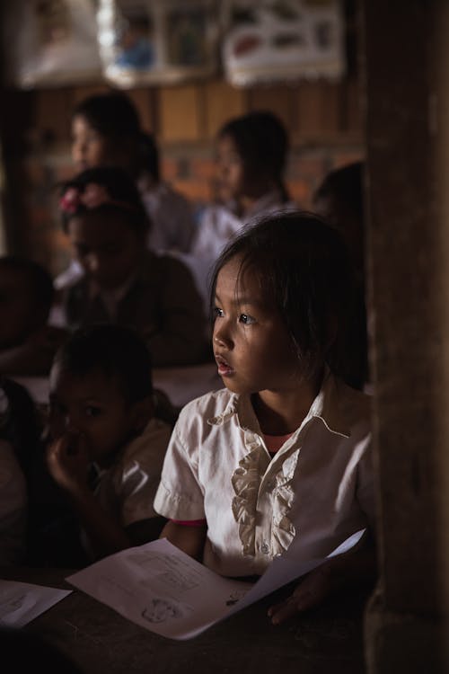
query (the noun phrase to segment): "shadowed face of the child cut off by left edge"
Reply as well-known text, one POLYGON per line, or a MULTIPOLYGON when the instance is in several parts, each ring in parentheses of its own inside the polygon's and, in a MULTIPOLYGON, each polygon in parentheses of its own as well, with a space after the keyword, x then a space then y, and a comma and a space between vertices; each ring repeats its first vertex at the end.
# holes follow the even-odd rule
POLYGON ((0 349, 18 346, 36 327, 30 283, 18 270, 0 268, 0 349))

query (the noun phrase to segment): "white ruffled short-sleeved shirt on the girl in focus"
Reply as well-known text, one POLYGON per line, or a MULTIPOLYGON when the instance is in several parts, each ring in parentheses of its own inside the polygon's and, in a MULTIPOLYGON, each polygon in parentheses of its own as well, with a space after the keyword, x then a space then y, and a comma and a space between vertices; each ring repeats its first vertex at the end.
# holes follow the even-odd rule
POLYGON ((374 528, 370 437, 369 397, 329 373, 274 457, 249 396, 203 395, 180 412, 154 509, 207 519, 203 563, 225 576, 263 573, 292 544, 320 558, 374 528))

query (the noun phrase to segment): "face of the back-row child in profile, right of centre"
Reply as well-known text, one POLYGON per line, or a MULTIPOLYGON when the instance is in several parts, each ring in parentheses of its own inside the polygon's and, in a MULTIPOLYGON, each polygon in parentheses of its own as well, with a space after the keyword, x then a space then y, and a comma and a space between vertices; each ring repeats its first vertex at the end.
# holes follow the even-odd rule
POLYGON ((231 136, 222 136, 216 145, 216 187, 219 200, 238 200, 244 192, 242 156, 231 136))

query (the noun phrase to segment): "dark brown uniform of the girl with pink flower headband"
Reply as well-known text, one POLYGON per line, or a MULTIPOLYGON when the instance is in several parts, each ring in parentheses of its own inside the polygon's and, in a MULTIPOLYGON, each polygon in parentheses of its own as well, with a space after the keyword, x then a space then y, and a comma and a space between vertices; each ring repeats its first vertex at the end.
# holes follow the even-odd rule
POLYGON ((207 353, 206 321, 189 270, 169 255, 142 252, 136 273, 116 292, 113 311, 100 289, 82 277, 63 296, 71 329, 128 325, 144 337, 154 367, 191 365, 207 353))

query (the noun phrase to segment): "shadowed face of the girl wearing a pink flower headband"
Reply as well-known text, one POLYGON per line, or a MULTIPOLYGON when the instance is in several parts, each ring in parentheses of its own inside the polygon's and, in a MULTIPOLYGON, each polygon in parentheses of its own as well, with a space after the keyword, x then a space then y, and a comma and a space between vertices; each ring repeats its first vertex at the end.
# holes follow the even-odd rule
POLYGON ((100 288, 113 290, 127 282, 144 244, 124 221, 125 214, 104 219, 94 210, 68 222, 67 234, 85 273, 100 288))

